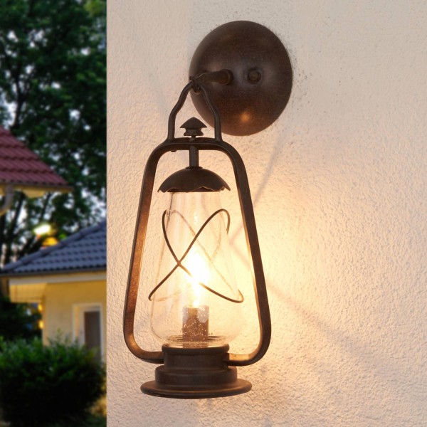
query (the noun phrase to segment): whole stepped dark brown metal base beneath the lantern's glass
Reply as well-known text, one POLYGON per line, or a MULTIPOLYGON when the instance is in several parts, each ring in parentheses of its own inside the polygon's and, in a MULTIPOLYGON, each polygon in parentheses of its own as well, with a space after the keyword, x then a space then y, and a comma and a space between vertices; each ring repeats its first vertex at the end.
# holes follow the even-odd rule
POLYGON ((144 394, 173 399, 206 399, 246 393, 252 384, 237 378, 237 369, 224 360, 228 345, 206 348, 163 346, 164 365, 156 379, 141 386, 144 394))

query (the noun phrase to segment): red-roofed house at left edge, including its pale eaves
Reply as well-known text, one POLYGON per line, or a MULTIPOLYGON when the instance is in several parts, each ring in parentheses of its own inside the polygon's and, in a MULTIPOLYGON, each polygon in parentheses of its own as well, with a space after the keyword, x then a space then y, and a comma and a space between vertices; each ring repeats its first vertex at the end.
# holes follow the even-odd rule
POLYGON ((0 126, 0 216, 11 207, 14 192, 41 197, 46 192, 71 191, 68 183, 43 163, 37 154, 0 126))

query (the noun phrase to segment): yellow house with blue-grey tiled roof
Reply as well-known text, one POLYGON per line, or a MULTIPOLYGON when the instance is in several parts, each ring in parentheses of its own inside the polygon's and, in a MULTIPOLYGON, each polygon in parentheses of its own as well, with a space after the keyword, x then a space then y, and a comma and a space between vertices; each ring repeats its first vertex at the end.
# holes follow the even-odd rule
POLYGON ((105 359, 106 223, 5 265, 0 278, 12 302, 36 303, 43 342, 58 333, 100 349, 105 359))

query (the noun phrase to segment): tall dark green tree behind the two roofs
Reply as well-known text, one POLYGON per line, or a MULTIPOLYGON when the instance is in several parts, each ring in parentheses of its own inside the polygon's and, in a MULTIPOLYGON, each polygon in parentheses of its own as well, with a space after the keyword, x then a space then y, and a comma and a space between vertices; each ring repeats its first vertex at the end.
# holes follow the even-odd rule
POLYGON ((0 263, 36 251, 42 221, 60 235, 105 209, 105 1, 0 0, 0 122, 73 186, 0 218, 0 263))

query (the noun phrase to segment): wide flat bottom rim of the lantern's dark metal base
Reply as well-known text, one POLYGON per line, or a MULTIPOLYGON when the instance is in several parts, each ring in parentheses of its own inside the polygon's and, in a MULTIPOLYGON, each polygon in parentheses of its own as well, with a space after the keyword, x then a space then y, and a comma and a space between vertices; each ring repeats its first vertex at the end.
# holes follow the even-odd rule
POLYGON ((252 384, 245 379, 238 379, 233 384, 211 386, 197 389, 196 387, 179 387, 157 384, 156 381, 148 381, 141 386, 144 394, 157 397, 169 397, 172 399, 208 399, 212 397, 235 396, 251 390, 252 384))

